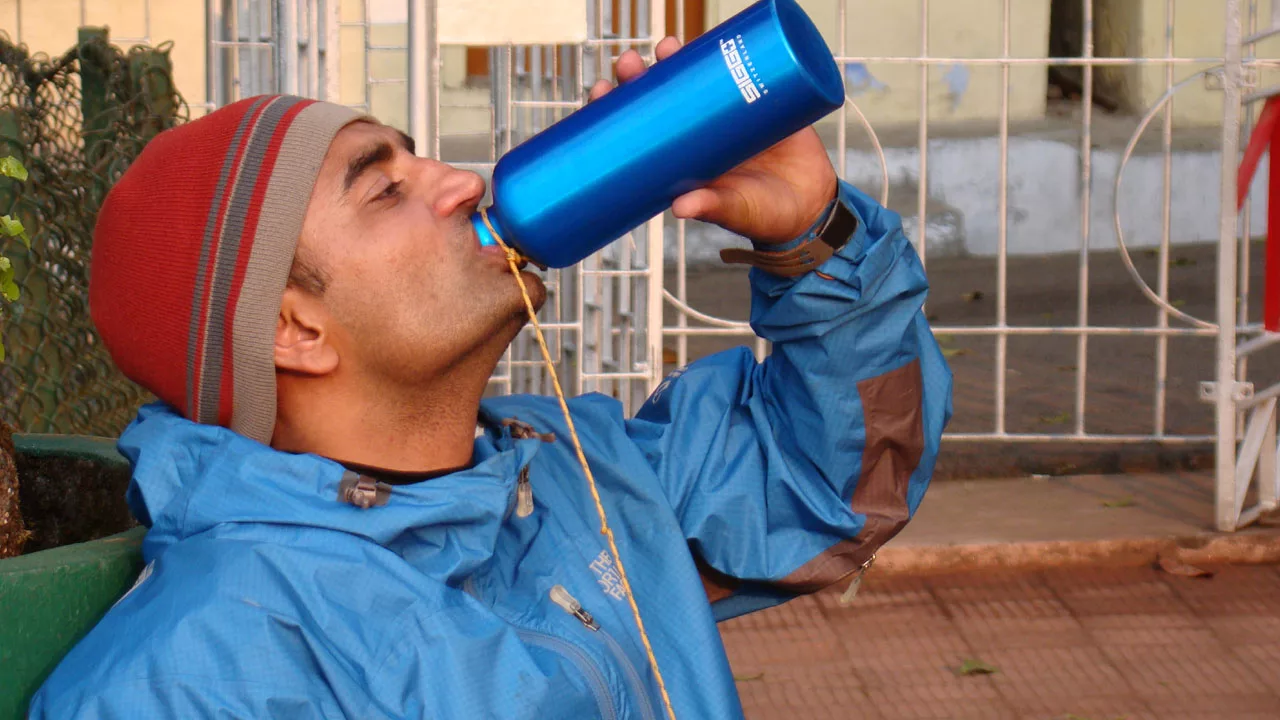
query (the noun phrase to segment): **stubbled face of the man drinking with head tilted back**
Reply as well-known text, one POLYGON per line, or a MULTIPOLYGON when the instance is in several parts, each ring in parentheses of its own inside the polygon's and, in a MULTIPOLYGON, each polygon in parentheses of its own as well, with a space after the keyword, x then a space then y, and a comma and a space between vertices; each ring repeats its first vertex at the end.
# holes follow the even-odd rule
MULTIPOLYGON (((338 133, 298 258, 324 281, 307 300, 321 304, 343 370, 412 386, 468 360, 497 361, 525 306, 506 255, 481 247, 471 228, 483 196, 479 176, 415 156, 389 127, 358 122, 338 133)), ((524 277, 541 306, 543 283, 524 277)))

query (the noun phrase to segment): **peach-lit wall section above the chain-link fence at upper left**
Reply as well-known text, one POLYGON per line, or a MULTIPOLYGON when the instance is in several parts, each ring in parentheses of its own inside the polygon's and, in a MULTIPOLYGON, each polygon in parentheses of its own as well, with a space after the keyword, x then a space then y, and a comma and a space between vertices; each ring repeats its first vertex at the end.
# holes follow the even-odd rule
MULTIPOLYGON (((111 38, 140 38, 147 33, 142 0, 0 0, 0 29, 24 42, 32 51, 59 55, 76 45, 81 4, 84 22, 106 26, 111 38), (19 6, 22 17, 18 17, 19 6), (19 37, 18 28, 22 28, 19 37)), ((204 0, 152 0, 152 45, 173 41, 174 82, 192 115, 204 113, 205 102, 205 4, 204 0)))

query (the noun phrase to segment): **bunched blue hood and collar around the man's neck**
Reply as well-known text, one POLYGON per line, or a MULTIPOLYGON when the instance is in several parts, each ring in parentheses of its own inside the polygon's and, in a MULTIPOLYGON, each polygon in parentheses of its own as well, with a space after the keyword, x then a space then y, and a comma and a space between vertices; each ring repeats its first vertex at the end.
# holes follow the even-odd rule
POLYGON ((511 439, 488 416, 481 423, 488 429, 476 437, 471 469, 379 486, 389 491, 387 503, 362 509, 343 500, 343 478, 357 475, 338 462, 273 450, 163 404, 145 406, 119 442, 133 465, 129 507, 150 528, 143 556, 150 562, 221 524, 283 524, 358 536, 436 577, 467 574, 493 555, 520 469, 539 445, 511 439))

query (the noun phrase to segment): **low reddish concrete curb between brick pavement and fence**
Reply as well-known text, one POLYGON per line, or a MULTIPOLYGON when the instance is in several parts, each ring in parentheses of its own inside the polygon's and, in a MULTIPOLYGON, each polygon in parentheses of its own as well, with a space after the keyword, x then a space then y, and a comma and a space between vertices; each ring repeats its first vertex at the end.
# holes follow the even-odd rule
POLYGON ((1280 530, 1100 541, 1046 541, 954 546, 900 546, 881 550, 876 575, 928 575, 1055 568, 1134 568, 1162 557, 1188 565, 1280 562, 1280 530))

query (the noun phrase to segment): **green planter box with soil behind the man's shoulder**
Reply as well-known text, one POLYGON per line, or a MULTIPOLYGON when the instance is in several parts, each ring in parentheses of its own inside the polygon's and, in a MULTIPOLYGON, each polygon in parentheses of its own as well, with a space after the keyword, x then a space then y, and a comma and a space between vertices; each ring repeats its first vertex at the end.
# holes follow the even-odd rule
MULTIPOLYGON (((111 478, 111 492, 120 473, 128 473, 128 462, 105 438, 14 436, 14 443, 22 460, 38 464, 46 474, 58 462, 73 473, 97 468, 111 478)), ((108 509, 108 515, 118 523, 119 507, 108 509)), ((133 584, 142 569, 143 534, 143 528, 133 528, 0 560, 0 720, 26 716, 32 693, 49 673, 133 584)))

